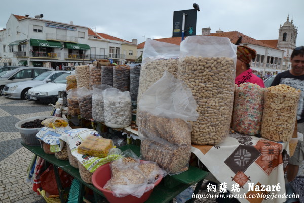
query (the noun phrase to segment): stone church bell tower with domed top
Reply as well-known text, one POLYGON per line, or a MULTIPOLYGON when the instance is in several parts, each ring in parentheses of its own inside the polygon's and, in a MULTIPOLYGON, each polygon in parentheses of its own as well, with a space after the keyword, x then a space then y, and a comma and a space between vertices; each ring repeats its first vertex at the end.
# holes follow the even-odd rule
MULTIPOLYGON (((293 19, 289 22, 289 15, 287 16, 287 21, 284 22, 283 26, 280 24, 279 29, 279 39, 277 48, 284 50, 284 60, 283 66, 285 68, 290 69, 290 55, 293 49, 296 47, 296 38, 297 38, 298 30, 295 25, 293 25, 293 19)), ((286 70, 286 69, 285 69, 286 70)))

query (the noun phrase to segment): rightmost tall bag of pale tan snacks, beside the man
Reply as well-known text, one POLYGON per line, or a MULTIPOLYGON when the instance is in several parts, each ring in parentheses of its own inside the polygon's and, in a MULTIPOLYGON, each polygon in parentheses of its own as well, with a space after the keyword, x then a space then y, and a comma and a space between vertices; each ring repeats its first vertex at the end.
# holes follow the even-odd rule
POLYGON ((280 84, 267 88, 261 136, 277 142, 289 142, 296 122, 300 90, 280 84))

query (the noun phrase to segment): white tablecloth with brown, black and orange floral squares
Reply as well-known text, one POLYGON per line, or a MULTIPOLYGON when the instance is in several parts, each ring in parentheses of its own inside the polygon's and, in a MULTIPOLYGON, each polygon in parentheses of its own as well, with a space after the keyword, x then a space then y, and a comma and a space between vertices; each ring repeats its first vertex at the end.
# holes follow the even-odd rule
MULTIPOLYGON (((220 183, 227 184, 227 190, 239 194, 240 202, 285 202, 282 197, 270 200, 248 198, 249 194, 284 195, 284 169, 289 159, 288 143, 277 143, 255 136, 231 134, 215 146, 192 145, 191 151, 202 161, 220 183), (240 191, 232 191, 238 183, 240 191), (280 191, 261 192, 249 191, 249 184, 254 188, 261 186, 277 186, 280 191), (273 193, 273 194, 272 194, 273 193), (241 195, 247 195, 247 198, 241 195)), ((220 185, 216 186, 220 187, 220 185)))

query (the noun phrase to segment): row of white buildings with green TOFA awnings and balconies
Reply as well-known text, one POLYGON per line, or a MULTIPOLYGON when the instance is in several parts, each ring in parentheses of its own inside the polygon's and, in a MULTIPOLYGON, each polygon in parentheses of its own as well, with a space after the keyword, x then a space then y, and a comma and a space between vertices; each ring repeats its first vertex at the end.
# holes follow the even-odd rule
POLYGON ((66 24, 11 14, 6 29, 0 31, 0 65, 55 68, 91 63, 95 59, 123 64, 137 55, 121 54, 122 47, 129 53, 136 50, 136 46, 136 39, 133 42, 107 39, 88 27, 74 25, 72 21, 66 24))

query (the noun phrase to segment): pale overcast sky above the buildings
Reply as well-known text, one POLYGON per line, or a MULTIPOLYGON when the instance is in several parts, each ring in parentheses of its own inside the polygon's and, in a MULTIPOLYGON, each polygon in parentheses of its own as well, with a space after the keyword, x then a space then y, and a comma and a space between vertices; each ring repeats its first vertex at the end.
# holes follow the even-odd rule
POLYGON ((303 0, 111 0, 111 1, 34 1, 3 0, 0 29, 12 14, 43 14, 43 19, 92 28, 97 32, 131 41, 172 37, 173 12, 200 6, 197 13, 197 34, 210 27, 239 31, 257 40, 278 39, 280 24, 289 21, 298 27, 296 46, 304 46, 303 0))

